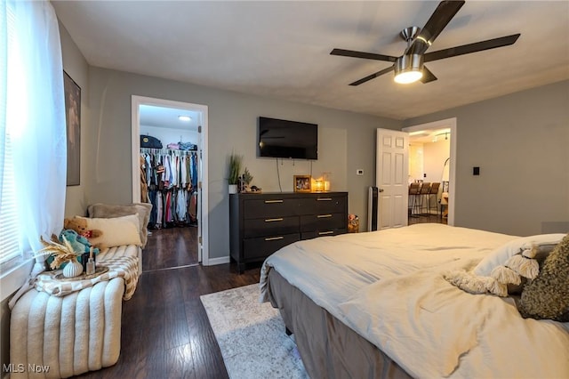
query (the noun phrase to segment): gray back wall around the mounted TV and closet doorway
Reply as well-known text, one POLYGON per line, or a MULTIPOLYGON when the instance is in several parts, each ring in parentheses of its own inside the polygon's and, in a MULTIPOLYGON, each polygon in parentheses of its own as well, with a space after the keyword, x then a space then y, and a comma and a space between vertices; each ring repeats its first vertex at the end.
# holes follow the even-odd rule
MULTIPOLYGON (((209 254, 228 256, 227 156, 244 155, 244 164, 263 190, 278 190, 276 161, 256 157, 257 117, 279 117, 316 123, 321 157, 312 165, 315 176, 333 172, 333 189, 349 191, 349 212, 366 216, 367 188, 373 185, 375 129, 400 129, 401 122, 381 117, 275 101, 199 85, 145 77, 127 72, 89 69, 91 125, 82 157, 87 204, 126 203, 132 197, 131 96, 184 101, 208 106, 209 254), (337 147, 337 148, 336 148, 337 147), (357 176, 357 168, 365 170, 357 176)), ((310 173, 307 161, 279 166, 283 190, 292 190, 294 173, 310 173)), ((363 225, 362 229, 365 227, 363 225)))

